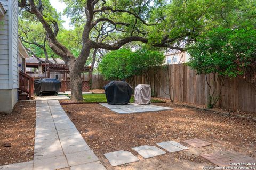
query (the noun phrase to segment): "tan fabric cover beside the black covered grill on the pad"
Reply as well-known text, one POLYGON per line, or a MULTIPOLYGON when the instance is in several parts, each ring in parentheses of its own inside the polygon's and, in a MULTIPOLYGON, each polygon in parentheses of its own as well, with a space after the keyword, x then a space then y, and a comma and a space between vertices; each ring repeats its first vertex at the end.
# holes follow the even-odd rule
POLYGON ((134 91, 135 104, 146 105, 151 101, 151 87, 146 84, 139 84, 134 91))

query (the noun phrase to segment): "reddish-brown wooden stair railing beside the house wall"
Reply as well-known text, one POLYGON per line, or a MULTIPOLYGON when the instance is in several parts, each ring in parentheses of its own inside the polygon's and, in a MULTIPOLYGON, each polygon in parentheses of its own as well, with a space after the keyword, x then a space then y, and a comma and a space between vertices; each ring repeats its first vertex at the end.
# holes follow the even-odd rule
POLYGON ((19 90, 26 92, 31 100, 34 94, 34 78, 19 72, 19 90))

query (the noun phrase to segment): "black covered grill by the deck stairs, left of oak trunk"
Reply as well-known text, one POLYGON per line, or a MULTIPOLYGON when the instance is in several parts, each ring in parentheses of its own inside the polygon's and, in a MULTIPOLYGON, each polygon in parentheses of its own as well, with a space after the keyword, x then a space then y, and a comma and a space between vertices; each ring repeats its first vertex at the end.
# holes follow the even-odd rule
POLYGON ((61 82, 57 79, 39 79, 34 81, 36 95, 55 95, 60 91, 61 82))

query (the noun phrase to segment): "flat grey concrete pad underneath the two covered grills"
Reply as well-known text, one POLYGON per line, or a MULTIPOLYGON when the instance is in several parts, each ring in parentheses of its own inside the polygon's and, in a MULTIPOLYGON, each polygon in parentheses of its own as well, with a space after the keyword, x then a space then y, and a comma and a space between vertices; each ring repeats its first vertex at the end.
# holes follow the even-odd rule
POLYGON ((140 113, 140 112, 156 112, 173 109, 170 107, 162 107, 156 105, 138 105, 134 103, 129 103, 127 105, 110 105, 108 103, 100 103, 102 106, 109 108, 111 111, 114 111, 119 114, 126 113, 140 113))

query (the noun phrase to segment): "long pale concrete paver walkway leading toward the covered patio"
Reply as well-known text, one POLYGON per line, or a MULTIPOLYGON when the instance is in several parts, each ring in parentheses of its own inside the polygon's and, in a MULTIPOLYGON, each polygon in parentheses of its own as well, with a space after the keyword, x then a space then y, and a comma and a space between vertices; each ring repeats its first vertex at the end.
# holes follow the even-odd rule
POLYGON ((58 100, 36 101, 36 133, 34 160, 0 166, 0 169, 54 170, 95 169, 99 162, 58 100))

